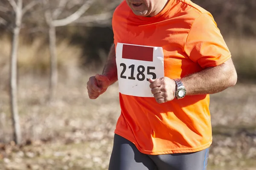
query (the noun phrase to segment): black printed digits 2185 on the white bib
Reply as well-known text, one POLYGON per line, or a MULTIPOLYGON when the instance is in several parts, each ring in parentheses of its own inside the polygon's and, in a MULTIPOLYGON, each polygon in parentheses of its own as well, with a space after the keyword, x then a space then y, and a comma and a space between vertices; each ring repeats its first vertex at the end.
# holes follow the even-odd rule
MULTIPOLYGON (((120 77, 122 79, 127 79, 126 76, 124 76, 125 74, 125 71, 127 69, 127 66, 125 63, 121 63, 120 66, 122 67, 122 72, 121 72, 121 75, 120 77)), ((145 76, 145 67, 143 65, 139 65, 137 67, 137 71, 138 71, 138 74, 137 75, 134 75, 134 69, 135 69, 135 65, 129 65, 128 66, 128 69, 131 69, 131 76, 128 77, 128 79, 131 79, 131 80, 139 80, 139 81, 144 81, 146 76, 145 76), (136 76, 136 77, 135 77, 136 76)), ((154 73, 154 72, 151 72, 152 70, 155 70, 155 67, 151 67, 151 66, 148 66, 147 67, 147 75, 151 75, 153 79, 156 79, 157 78, 157 75, 154 73)), ((148 78, 146 79, 148 81, 148 78)))

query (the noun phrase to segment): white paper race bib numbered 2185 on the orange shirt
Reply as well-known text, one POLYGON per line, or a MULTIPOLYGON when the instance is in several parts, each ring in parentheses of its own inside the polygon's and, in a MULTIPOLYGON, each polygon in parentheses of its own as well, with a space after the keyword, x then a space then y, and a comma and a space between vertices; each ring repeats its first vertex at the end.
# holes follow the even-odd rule
POLYGON ((121 94, 154 97, 149 78, 164 77, 163 48, 117 43, 116 66, 121 94))

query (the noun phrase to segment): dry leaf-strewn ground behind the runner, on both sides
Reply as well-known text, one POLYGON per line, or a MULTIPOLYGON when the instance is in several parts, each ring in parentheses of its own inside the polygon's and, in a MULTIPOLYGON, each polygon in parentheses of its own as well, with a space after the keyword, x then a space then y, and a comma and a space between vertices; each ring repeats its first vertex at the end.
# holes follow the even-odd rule
MULTIPOLYGON (((24 144, 12 139, 8 88, 0 83, 0 170, 107 170, 120 114, 118 85, 87 97, 88 76, 61 80, 46 102, 47 79, 19 79, 24 144)), ((256 169, 256 84, 211 95, 213 144, 207 170, 256 169)))

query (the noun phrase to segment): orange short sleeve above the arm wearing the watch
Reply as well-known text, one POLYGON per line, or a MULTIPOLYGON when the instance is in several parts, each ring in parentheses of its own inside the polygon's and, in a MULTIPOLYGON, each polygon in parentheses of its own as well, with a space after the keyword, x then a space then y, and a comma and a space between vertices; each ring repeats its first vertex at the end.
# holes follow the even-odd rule
POLYGON ((202 68, 215 67, 231 57, 217 24, 208 14, 202 14, 193 23, 184 51, 202 68))

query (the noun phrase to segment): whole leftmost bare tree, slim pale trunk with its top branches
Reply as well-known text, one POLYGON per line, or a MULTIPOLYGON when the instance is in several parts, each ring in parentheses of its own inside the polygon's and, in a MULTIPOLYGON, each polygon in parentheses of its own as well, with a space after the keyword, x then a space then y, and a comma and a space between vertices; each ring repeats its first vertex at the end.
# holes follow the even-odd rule
MULTIPOLYGON (((18 105, 17 105, 17 51, 19 44, 19 35, 20 28, 22 23, 23 14, 28 11, 30 8, 35 6, 36 1, 32 1, 25 8, 23 8, 23 0, 7 0, 9 5, 12 7, 14 17, 14 23, 12 23, 11 32, 12 32, 12 49, 10 56, 10 106, 12 113, 12 125, 13 125, 13 136, 16 144, 21 143, 21 130, 20 130, 20 121, 18 114, 18 105)), ((1 12, 8 12, 9 9, 1 6, 1 12)), ((2 24, 6 25, 7 21, 3 18, 0 18, 2 24)))

